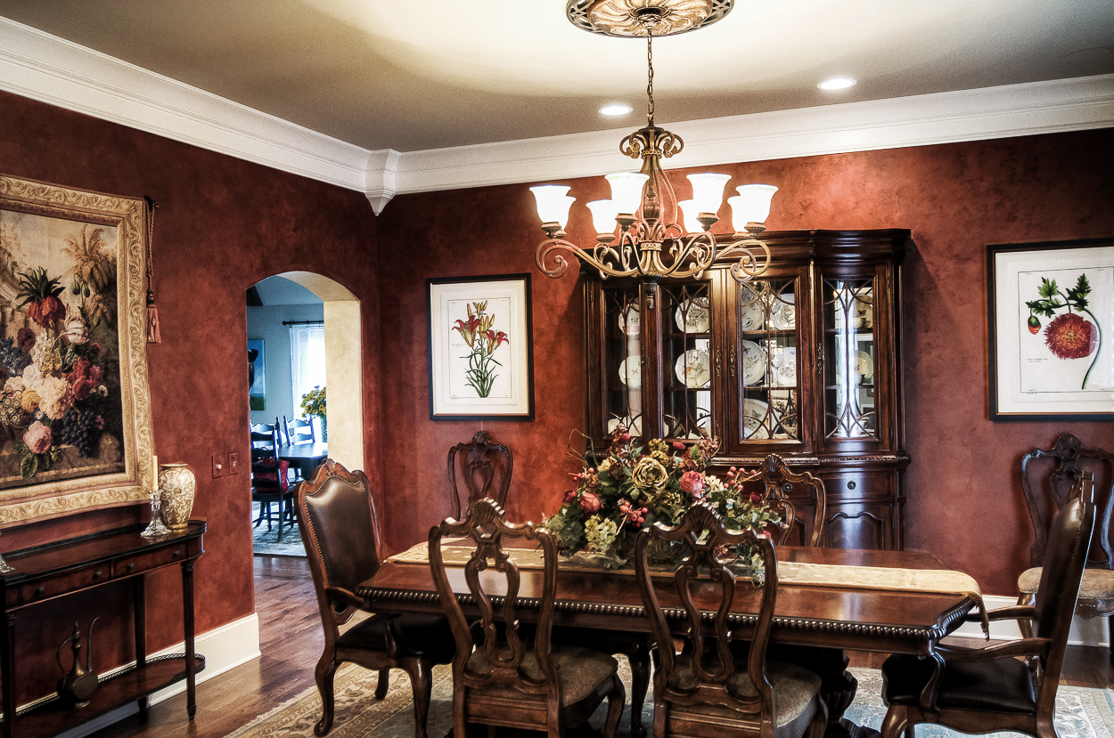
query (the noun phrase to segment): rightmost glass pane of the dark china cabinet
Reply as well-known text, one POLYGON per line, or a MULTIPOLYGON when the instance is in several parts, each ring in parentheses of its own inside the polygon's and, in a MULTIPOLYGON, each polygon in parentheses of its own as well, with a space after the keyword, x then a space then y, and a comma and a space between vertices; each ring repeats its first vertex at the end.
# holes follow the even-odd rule
POLYGON ((878 439, 874 305, 872 276, 823 281, 824 440, 828 442, 878 439))

